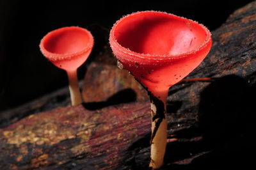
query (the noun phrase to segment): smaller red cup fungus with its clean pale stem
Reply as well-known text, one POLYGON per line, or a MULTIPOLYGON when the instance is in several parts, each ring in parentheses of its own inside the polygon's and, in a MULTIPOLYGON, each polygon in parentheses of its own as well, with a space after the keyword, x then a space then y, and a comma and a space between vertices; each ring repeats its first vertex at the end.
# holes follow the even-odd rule
POLYGON ((77 68, 90 55, 93 36, 81 27, 61 27, 51 31, 40 42, 45 58, 67 72, 72 105, 81 104, 81 93, 77 80, 77 68))

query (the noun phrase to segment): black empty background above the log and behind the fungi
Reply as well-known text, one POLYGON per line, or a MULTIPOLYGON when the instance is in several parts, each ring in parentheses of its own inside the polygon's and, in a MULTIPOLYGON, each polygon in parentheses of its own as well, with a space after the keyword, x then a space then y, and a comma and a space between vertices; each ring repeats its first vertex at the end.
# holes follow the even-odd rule
MULTIPOLYGON (((65 71, 47 61, 38 47, 53 29, 92 24, 111 29, 123 15, 157 10, 197 20, 214 31, 230 13, 249 2, 0 0, 0 111, 67 86, 65 71)), ((78 70, 79 79, 83 79, 84 67, 78 70)))

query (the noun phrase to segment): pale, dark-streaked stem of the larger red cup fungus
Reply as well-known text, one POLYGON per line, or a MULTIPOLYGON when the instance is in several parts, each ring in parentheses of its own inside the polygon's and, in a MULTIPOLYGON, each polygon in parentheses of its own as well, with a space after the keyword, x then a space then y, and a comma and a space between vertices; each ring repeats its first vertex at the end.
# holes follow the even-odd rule
POLYGON ((167 141, 166 100, 168 90, 150 94, 152 112, 151 160, 149 166, 157 169, 163 165, 167 141))

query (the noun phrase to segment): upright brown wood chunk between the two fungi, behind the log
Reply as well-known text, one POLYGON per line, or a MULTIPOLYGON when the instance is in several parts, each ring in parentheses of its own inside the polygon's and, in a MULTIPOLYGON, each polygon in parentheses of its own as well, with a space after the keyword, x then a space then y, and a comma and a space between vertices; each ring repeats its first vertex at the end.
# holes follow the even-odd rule
MULTIPOLYGON (((113 56, 107 57, 113 58, 113 56)), ((120 70, 116 64, 106 65, 93 62, 84 77, 84 102, 106 102, 116 93, 119 93, 115 99, 116 102, 149 100, 147 91, 134 80, 127 70, 120 70)))

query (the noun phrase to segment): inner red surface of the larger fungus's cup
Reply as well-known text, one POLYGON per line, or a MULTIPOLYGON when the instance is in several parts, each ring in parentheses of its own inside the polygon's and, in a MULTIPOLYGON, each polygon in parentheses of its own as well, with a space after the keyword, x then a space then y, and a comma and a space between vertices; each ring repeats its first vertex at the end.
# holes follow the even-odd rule
POLYGON ((207 38, 196 22, 165 13, 141 13, 115 27, 117 42, 140 54, 172 56, 191 52, 207 38))

